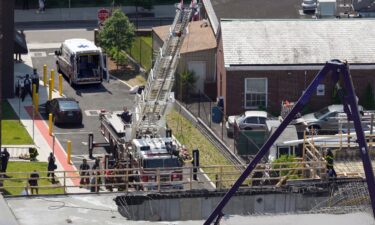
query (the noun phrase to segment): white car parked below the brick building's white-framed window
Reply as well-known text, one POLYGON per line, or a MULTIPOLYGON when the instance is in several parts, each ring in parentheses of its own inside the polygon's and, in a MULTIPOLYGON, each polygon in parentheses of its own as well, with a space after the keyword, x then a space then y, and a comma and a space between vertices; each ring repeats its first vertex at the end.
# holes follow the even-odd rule
POLYGON ((266 120, 265 111, 246 111, 242 115, 229 116, 225 124, 227 136, 233 137, 234 124, 237 124, 240 130, 263 130, 266 129, 266 120))

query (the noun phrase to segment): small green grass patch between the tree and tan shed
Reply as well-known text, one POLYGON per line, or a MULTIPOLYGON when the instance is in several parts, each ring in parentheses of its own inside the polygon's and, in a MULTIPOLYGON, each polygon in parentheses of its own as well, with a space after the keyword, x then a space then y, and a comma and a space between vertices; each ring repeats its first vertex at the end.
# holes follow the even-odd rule
POLYGON ((136 37, 130 50, 130 55, 146 70, 152 66, 152 37, 136 37))

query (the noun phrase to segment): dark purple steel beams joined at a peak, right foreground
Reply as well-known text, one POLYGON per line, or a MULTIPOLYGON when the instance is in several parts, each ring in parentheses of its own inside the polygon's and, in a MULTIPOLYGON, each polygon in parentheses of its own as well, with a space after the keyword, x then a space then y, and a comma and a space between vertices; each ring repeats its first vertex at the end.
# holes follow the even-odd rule
MULTIPOLYGON (((332 71, 333 74, 336 74, 338 72, 344 72, 344 80, 345 84, 348 88, 348 92, 351 94, 351 98, 349 98, 349 103, 352 109, 352 112, 356 112, 354 117, 355 120, 355 128, 357 132, 357 138, 360 142, 361 147, 361 156, 364 163, 364 168, 366 171, 366 178, 367 178, 367 184, 369 186, 370 191, 370 197, 371 197, 371 203, 373 212, 375 215, 375 186, 374 186, 374 176, 372 173, 372 166, 371 161, 368 157, 368 152, 366 150, 366 141, 364 139, 363 130, 361 127, 360 119, 359 119, 359 112, 358 107, 356 104, 356 100, 354 97, 354 88, 353 84, 350 78, 350 75, 347 71, 346 64, 343 64, 339 60, 331 60, 327 62, 324 67, 319 71, 319 73, 315 76, 314 80, 311 82, 309 87, 306 89, 305 93, 299 98, 293 109, 290 111, 290 113, 286 116, 284 121, 280 124, 280 126, 275 130, 275 132, 268 138, 266 143, 262 146, 262 148, 259 150, 258 154, 255 156, 255 158, 249 163, 245 171, 241 174, 241 176, 238 178, 238 180, 234 183, 231 189, 225 194, 223 199, 218 203, 214 211, 211 213, 211 215, 207 218, 205 221, 205 225, 211 224, 215 218, 220 219, 220 215, 222 215, 222 210, 225 207, 225 205, 228 203, 228 201, 231 199, 231 197, 236 193, 240 185, 244 182, 244 180, 249 176, 249 174, 255 169, 255 166, 259 163, 259 161, 264 157, 264 155, 269 151, 270 147, 273 145, 273 143, 276 141, 276 139, 280 136, 280 134, 284 131, 284 129, 287 127, 287 125, 293 120, 294 116, 300 112, 303 108, 303 106, 307 103, 311 95, 316 90, 317 86, 320 84, 321 80, 330 72, 332 71), (353 110, 354 109, 354 110, 353 110), (364 149, 364 150, 363 150, 364 149), (371 185, 371 186, 370 186, 371 185)), ((218 221, 216 221, 217 223, 218 221)))

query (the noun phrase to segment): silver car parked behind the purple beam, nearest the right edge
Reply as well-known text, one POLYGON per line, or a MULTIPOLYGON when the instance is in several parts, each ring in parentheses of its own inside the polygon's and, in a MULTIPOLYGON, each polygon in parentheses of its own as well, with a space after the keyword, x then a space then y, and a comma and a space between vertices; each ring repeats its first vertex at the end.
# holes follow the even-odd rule
MULTIPOLYGON (((358 110, 363 112, 363 107, 358 106, 358 110)), ((308 128, 314 128, 316 132, 320 130, 338 131, 339 113, 344 112, 343 105, 330 105, 317 112, 303 115, 296 120, 296 123, 305 123, 308 128)))

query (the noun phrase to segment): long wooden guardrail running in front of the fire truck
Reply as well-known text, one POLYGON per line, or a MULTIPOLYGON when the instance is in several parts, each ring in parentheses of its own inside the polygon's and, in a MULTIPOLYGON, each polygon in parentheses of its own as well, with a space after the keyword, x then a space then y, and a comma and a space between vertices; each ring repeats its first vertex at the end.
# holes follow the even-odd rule
MULTIPOLYGON (((165 192, 176 189, 203 189, 207 185, 214 190, 229 188, 240 175, 236 166, 157 168, 154 170, 100 169, 87 171, 86 174, 79 174, 77 171, 54 171, 58 182, 51 183, 51 177, 47 177, 47 173, 48 171, 38 171, 40 176, 37 179, 37 186, 31 186, 29 183, 32 172, 0 173, 0 192, 3 195, 15 196, 28 195, 32 189, 35 192, 40 190, 39 193, 36 192, 38 194, 111 191, 165 192)), ((324 179, 324 174, 326 174, 324 162, 259 164, 245 180, 243 187, 280 186, 288 179, 324 179)))

